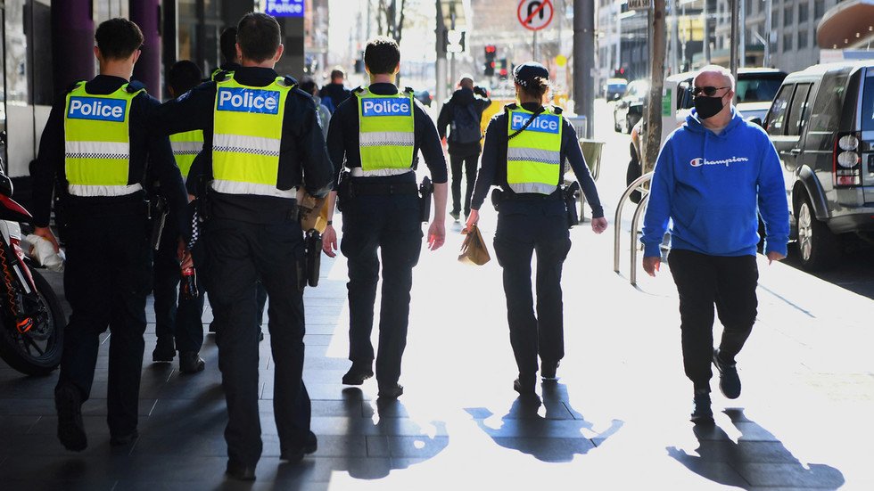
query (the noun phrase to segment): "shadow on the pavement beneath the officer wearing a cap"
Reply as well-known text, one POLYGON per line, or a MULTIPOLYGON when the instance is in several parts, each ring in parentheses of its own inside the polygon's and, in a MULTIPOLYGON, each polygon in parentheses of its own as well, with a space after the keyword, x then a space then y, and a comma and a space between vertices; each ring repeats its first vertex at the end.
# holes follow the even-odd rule
POLYGON ((606 430, 598 432, 594 423, 570 405, 564 384, 544 381, 541 388, 542 402, 538 397, 516 397, 499 424, 488 408, 466 411, 499 446, 530 454, 542 462, 573 461, 574 455, 589 453, 623 426, 623 421, 613 420, 606 430))

